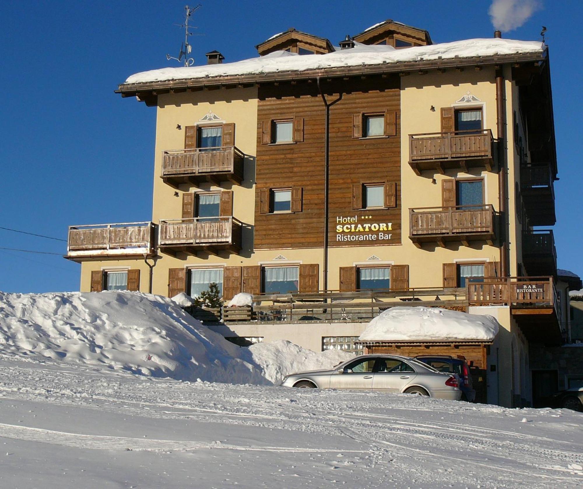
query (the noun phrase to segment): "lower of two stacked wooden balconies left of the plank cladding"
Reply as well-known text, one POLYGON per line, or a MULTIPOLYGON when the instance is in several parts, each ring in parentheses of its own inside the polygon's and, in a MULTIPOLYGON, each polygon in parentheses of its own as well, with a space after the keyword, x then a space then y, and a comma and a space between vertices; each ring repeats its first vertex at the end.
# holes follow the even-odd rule
POLYGON ((242 229, 241 222, 231 216, 160 221, 160 248, 169 254, 238 253, 242 229))

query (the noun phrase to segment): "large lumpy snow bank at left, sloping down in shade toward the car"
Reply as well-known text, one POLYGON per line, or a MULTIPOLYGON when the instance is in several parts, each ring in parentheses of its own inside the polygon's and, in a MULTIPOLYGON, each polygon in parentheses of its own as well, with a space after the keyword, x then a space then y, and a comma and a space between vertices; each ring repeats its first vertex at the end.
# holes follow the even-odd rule
POLYGON ((0 292, 0 352, 182 380, 269 383, 248 352, 170 299, 140 292, 0 292))

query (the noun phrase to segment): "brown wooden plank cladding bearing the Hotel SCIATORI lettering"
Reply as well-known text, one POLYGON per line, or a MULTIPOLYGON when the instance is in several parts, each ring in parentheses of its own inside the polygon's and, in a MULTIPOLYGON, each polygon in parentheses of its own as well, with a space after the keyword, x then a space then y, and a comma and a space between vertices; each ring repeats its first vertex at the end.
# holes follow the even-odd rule
MULTIPOLYGON (((396 76, 321 81, 329 103, 342 93, 329 109, 330 247, 401 243, 399 86, 396 76), (367 137, 369 116, 377 118, 375 130, 380 134, 367 137), (360 127, 356 132, 355 120, 360 127), (390 199, 367 208, 366 199, 360 198, 359 207, 354 207, 353 188, 366 195, 367 186, 385 185, 392 192, 390 199)), ((258 94, 254 247, 322 247, 325 106, 317 83, 260 86, 258 94), (297 120, 303 120, 303 140, 290 136, 288 142, 275 142, 273 134, 266 137, 265 128, 273 128, 272 123, 297 120), (300 212, 259 212, 261 195, 292 187, 303 188, 300 212)))

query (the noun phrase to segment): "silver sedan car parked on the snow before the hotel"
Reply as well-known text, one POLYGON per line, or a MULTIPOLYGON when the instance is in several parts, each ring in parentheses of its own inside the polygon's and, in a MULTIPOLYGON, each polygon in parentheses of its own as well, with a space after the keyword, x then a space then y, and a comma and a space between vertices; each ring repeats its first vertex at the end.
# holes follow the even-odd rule
POLYGON ((398 355, 361 355, 331 370, 292 373, 280 385, 404 392, 455 401, 462 397, 459 379, 455 375, 439 372, 414 358, 398 355))

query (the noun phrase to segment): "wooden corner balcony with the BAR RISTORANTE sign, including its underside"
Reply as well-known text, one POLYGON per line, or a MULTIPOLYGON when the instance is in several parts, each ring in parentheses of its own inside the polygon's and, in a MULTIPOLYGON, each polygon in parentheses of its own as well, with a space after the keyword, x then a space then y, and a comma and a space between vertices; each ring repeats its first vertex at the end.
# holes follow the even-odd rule
POLYGON ((468 301, 470 306, 509 306, 529 340, 561 344, 561 304, 553 277, 470 278, 468 301))

